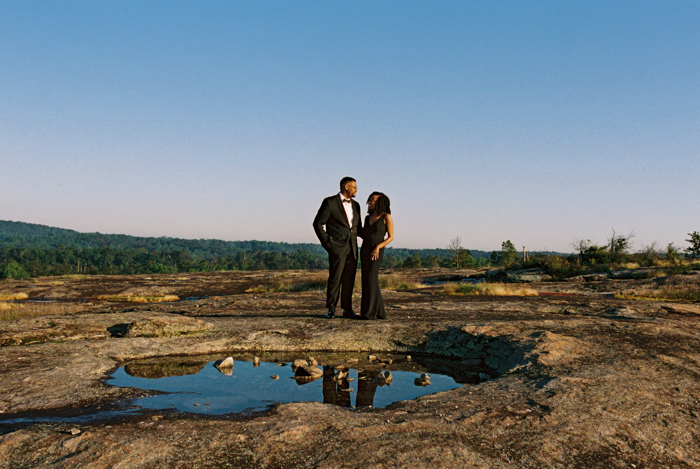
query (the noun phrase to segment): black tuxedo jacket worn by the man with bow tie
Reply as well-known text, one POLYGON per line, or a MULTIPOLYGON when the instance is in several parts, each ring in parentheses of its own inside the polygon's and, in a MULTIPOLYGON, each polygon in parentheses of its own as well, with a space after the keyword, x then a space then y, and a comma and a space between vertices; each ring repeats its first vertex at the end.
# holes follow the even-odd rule
POLYGON ((330 251, 333 254, 341 256, 351 252, 357 259, 357 230, 362 228, 362 216, 360 204, 355 200, 352 200, 352 209, 355 215, 350 226, 340 195, 326 197, 314 218, 314 231, 327 251, 330 243, 330 251))

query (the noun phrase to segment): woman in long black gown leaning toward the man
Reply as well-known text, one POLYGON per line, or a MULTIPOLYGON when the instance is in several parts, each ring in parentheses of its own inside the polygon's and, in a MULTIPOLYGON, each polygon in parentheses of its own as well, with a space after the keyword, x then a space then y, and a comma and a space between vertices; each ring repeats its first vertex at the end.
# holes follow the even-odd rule
POLYGON ((382 292, 379 289, 379 267, 384 248, 394 239, 389 197, 372 192, 367 199, 367 213, 360 236, 362 249, 362 309, 361 319, 386 319, 382 292), (388 235, 388 236, 387 236, 388 235))

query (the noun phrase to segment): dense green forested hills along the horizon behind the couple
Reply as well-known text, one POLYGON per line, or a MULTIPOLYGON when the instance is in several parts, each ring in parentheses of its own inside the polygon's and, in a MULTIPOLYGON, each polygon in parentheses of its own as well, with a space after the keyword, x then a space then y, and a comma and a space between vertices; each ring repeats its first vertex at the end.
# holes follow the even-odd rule
MULTIPOLYGON (((485 251, 388 248, 384 268, 491 265, 485 251)), ((0 220, 0 278, 327 269, 319 244, 142 238, 0 220)))

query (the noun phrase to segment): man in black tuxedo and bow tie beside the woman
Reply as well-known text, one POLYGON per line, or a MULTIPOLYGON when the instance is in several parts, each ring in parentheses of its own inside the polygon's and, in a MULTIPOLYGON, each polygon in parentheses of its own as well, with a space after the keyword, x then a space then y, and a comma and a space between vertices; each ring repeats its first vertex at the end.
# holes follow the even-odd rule
POLYGON ((352 200, 355 194, 357 182, 344 177, 340 180, 340 193, 326 197, 314 218, 316 236, 328 251, 328 319, 335 317, 338 297, 344 318, 360 318, 352 310, 352 289, 357 273, 357 230, 362 227, 360 204, 352 200))

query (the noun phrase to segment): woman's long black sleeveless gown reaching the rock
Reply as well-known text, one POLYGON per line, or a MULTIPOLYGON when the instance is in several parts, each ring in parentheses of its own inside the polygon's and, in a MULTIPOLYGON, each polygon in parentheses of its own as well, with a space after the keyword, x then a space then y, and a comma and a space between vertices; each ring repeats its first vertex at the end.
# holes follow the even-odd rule
POLYGON ((386 221, 382 215, 379 220, 370 224, 370 217, 365 217, 362 232, 362 307, 360 316, 363 319, 386 319, 382 291, 379 288, 379 267, 384 258, 384 249, 379 250, 379 257, 372 260, 374 247, 386 237, 386 221))

